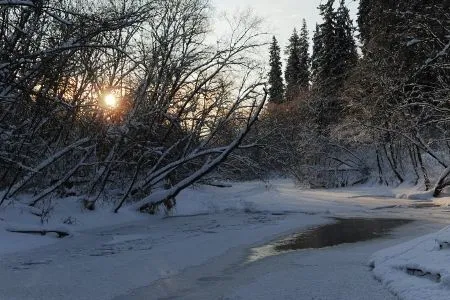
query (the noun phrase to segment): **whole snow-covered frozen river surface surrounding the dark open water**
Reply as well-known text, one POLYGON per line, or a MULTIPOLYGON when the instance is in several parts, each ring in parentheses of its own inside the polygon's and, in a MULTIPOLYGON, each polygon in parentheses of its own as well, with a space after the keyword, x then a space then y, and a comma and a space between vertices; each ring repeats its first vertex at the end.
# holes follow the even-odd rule
MULTIPOLYGON (((288 181, 201 186, 179 195, 177 210, 168 217, 127 209, 113 214, 107 206, 83 211, 75 199, 61 199, 44 225, 63 226, 71 235, 62 239, 8 232, 42 226, 27 207, 15 203, 0 209, 0 299, 389 299, 390 294, 373 279, 369 257, 450 221, 444 207, 409 207, 415 201, 399 196, 408 192, 407 187, 299 190, 288 181), (330 222, 331 216, 420 221, 396 231, 395 239, 244 263, 249 248, 330 222)), ((376 254, 374 274, 405 298, 409 297, 402 292, 406 278, 424 282, 423 290, 440 289, 450 296, 441 261, 450 249, 438 251, 433 235, 421 239, 426 241, 423 245, 433 241, 434 246, 409 242, 376 254), (412 248, 416 256, 401 254, 401 249, 412 248), (422 254, 435 259, 419 261, 422 254), (428 271, 439 270, 440 281, 402 272, 398 267, 402 259, 406 264, 423 264, 428 271), (438 262, 441 269, 436 269, 438 262), (393 276, 391 269, 399 275, 393 276)))

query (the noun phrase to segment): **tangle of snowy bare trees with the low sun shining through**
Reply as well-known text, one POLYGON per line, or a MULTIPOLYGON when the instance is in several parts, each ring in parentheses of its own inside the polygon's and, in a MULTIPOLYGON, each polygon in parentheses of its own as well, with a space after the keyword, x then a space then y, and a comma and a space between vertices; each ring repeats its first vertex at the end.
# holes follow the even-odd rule
POLYGON ((250 14, 211 42, 205 0, 0 1, 0 13, 1 203, 75 186, 91 209, 112 190, 116 212, 167 206, 241 146, 265 103, 250 14))

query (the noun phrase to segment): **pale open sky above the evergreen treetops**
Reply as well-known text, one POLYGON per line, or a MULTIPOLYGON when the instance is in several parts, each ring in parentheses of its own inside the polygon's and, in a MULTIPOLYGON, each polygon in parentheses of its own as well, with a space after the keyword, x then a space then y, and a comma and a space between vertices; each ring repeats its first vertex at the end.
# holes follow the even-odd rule
MULTIPOLYGON (((300 29, 303 18, 306 19, 310 38, 312 37, 315 24, 321 21, 317 7, 323 1, 325 0, 211 0, 217 13, 233 14, 239 10, 252 9, 264 19, 268 33, 277 37, 282 49, 285 48, 294 27, 300 29)), ((354 24, 358 2, 346 0, 354 24)))

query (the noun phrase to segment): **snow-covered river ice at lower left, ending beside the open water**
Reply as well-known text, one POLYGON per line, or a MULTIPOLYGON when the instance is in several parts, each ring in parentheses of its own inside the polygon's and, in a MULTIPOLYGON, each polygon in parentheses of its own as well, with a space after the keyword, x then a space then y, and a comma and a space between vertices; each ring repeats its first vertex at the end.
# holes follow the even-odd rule
POLYGON ((206 263, 230 248, 321 222, 318 216, 286 219, 253 215, 234 204, 231 201, 229 209, 214 208, 216 212, 203 215, 191 209, 190 213, 196 214, 193 217, 184 212, 81 230, 53 245, 4 255, 0 262, 0 298, 111 299, 206 263), (95 283, 87 281, 86 276, 95 283))

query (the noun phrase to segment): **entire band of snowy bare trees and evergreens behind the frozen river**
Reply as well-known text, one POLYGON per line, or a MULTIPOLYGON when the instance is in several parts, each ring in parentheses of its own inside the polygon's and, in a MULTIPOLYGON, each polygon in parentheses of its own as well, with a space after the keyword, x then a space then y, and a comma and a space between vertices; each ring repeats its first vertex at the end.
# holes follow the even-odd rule
POLYGON ((207 0, 0 0, 0 205, 27 193, 153 213, 198 181, 274 175, 438 196, 449 5, 361 0, 354 23, 328 0, 283 52, 249 13, 211 40, 207 0))

